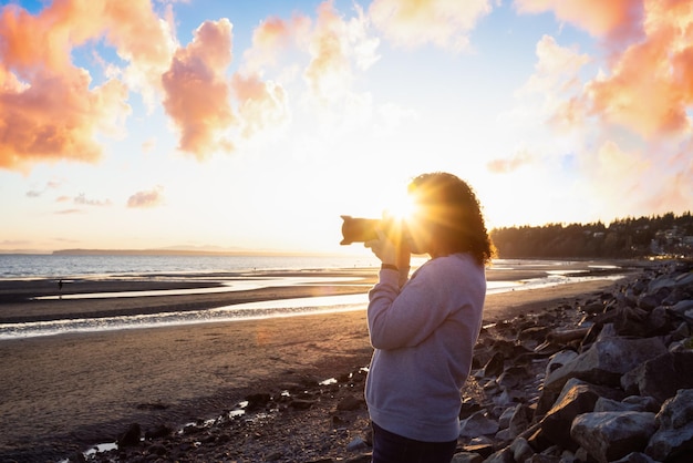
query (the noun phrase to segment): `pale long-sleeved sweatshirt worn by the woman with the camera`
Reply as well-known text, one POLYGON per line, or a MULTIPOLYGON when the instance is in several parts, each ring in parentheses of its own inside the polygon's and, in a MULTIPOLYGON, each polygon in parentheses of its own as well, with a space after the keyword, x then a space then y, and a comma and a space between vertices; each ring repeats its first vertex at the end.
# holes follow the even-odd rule
POLYGON ((428 260, 402 289, 397 281, 396 270, 382 269, 369 292, 371 420, 404 438, 453 441, 482 327, 484 267, 454 254, 428 260))

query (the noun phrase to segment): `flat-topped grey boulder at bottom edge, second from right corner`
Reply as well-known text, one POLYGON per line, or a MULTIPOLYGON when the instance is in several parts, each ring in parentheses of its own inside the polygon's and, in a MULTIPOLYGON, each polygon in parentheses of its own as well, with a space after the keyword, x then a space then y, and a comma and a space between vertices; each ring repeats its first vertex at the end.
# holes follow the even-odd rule
POLYGON ((570 436, 599 463, 645 449, 656 429, 654 413, 598 412, 577 416, 570 436))

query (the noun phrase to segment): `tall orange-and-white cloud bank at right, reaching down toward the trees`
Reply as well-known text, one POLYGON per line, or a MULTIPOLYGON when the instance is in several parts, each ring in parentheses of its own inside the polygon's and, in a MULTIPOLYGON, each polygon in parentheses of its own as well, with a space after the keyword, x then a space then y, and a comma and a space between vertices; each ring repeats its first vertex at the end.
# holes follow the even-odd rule
MULTIPOLYGON (((596 215, 612 215, 613 208, 621 215, 690 209, 693 168, 684 153, 693 146, 691 3, 609 3, 620 12, 580 8, 589 2, 516 3, 555 9, 603 45, 588 56, 548 35, 537 44, 535 73, 517 92, 515 114, 545 122, 525 133, 532 152, 542 153, 538 160, 561 164, 565 153, 575 154, 578 194, 596 215)), ((519 160, 506 161, 489 168, 503 172, 519 160)))

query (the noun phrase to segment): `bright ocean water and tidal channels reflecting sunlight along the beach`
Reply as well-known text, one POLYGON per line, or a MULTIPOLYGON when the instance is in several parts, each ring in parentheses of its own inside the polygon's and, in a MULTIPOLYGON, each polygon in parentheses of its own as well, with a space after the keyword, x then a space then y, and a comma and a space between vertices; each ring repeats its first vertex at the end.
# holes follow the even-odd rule
MULTIPOLYGON (((426 259, 416 258, 413 267, 426 259)), ((32 279, 188 279, 204 278, 224 282, 223 287, 159 290, 139 292, 113 292, 64 295, 63 299, 85 299, 104 297, 159 296, 176 292, 204 294, 255 289, 269 286, 306 285, 344 281, 330 276, 258 277, 252 276, 239 281, 238 274, 269 270, 317 270, 373 268, 380 261, 371 256, 102 256, 102 255, 0 255, 0 280, 32 279)), ((604 277, 587 275, 593 267, 604 266, 599 263, 547 261, 547 260, 503 260, 494 261, 490 272, 501 272, 503 279, 489 278, 488 294, 517 289, 530 289, 555 286, 566 282, 583 281, 594 278, 619 278, 610 274, 604 277), (541 277, 523 278, 527 270, 541 269, 541 277), (587 276, 580 276, 585 272, 587 276), (517 277, 514 277, 517 275, 517 277)), ((358 282, 356 282, 358 284, 358 282)), ((55 299, 48 296, 43 299, 55 299)), ((269 317, 290 317, 296 315, 364 310, 368 296, 328 296, 271 300, 262 302, 237 303, 207 310, 162 312, 143 316, 123 316, 107 318, 82 318, 24 323, 0 323, 0 340, 27 337, 51 336, 72 332, 105 331, 136 328, 155 328, 172 325, 190 325, 214 321, 232 321, 269 317)), ((1 310, 1 307, 0 307, 1 310)))

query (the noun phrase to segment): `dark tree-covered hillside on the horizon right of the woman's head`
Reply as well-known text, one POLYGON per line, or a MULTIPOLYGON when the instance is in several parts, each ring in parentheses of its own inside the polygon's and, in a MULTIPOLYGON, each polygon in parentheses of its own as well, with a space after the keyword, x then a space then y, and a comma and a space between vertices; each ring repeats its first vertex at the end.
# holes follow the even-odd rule
POLYGON ((642 258, 693 257, 691 212, 619 218, 608 226, 547 224, 495 228, 492 240, 499 258, 642 258))

